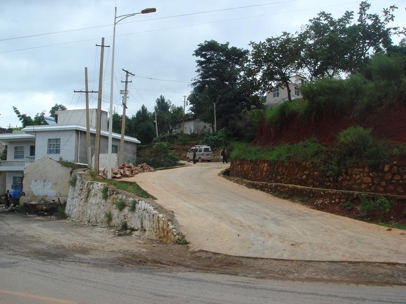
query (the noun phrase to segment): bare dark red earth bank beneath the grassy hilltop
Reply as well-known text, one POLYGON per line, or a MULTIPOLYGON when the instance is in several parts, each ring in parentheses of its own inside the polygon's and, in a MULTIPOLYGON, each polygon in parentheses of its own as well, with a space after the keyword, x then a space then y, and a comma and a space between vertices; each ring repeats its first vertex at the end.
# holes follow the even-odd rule
POLYGON ((341 117, 326 115, 308 122, 292 117, 281 130, 275 130, 262 120, 253 142, 260 145, 276 145, 316 137, 320 142, 332 144, 336 142, 336 135, 340 131, 356 125, 372 128, 373 136, 379 140, 391 143, 405 142, 406 105, 394 102, 390 106, 366 113, 363 118, 355 118, 351 111, 341 117))

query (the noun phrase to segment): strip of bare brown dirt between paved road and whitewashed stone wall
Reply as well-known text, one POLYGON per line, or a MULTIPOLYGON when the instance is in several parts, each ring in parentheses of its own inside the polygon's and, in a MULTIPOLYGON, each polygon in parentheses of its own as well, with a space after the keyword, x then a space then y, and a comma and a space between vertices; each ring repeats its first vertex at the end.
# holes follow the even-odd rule
POLYGON ((206 272, 262 279, 406 285, 406 265, 247 258, 52 217, 0 213, 0 252, 126 271, 206 272), (12 230, 9 227, 13 227, 12 230))

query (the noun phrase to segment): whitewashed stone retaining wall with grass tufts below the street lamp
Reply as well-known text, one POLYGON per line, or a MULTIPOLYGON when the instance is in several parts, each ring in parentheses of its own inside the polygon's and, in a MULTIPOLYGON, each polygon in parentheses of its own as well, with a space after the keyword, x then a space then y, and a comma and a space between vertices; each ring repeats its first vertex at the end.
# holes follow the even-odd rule
POLYGON ((133 229, 137 235, 165 243, 176 243, 183 239, 176 220, 167 217, 152 203, 118 191, 107 183, 87 180, 84 173, 73 174, 77 176, 76 184, 69 189, 65 208, 65 213, 72 219, 95 224, 104 223, 113 227, 121 227, 125 221, 128 228, 133 229), (107 199, 103 198, 104 186, 109 187, 107 199), (126 203, 122 211, 115 206, 119 200, 126 203), (134 211, 129 208, 132 202, 135 202, 134 211), (106 219, 106 213, 109 211, 112 214, 111 222, 106 219))

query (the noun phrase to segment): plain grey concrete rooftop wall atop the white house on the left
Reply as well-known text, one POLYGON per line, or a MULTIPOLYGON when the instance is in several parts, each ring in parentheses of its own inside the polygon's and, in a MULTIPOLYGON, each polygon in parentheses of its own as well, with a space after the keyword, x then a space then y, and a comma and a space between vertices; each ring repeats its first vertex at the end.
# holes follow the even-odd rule
MULTIPOLYGON (((93 129, 96 128, 96 112, 96 109, 89 109, 90 128, 93 129)), ((86 109, 55 111, 55 115, 58 117, 58 125, 86 127, 86 109)), ((108 130, 106 111, 101 111, 100 128, 108 130)))

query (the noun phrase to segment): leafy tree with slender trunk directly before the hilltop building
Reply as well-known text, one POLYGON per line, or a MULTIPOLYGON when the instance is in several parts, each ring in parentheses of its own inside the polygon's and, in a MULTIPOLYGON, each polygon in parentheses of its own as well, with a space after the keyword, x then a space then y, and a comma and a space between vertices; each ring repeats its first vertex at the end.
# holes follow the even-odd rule
POLYGON ((251 42, 250 74, 258 80, 260 89, 265 92, 276 87, 286 87, 288 99, 292 100, 289 77, 301 66, 301 45, 297 38, 283 32, 264 42, 251 42))

